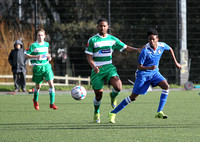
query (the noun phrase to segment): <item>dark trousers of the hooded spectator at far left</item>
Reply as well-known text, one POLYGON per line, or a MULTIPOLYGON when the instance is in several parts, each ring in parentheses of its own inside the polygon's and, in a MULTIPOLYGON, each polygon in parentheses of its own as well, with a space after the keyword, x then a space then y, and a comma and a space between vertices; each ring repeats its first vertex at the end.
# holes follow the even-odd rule
POLYGON ((13 79, 14 79, 14 86, 15 90, 26 89, 26 72, 14 73, 13 72, 13 79))

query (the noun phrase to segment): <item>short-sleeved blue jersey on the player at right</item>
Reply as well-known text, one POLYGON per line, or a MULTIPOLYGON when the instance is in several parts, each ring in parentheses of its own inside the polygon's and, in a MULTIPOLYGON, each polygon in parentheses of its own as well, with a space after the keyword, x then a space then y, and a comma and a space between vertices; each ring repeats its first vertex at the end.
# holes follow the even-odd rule
POLYGON ((157 43, 157 49, 154 50, 150 47, 149 43, 145 45, 145 48, 142 49, 138 63, 144 67, 155 65, 156 69, 154 70, 137 70, 137 75, 153 75, 155 72, 159 71, 159 61, 165 50, 170 50, 171 47, 164 42, 157 43))

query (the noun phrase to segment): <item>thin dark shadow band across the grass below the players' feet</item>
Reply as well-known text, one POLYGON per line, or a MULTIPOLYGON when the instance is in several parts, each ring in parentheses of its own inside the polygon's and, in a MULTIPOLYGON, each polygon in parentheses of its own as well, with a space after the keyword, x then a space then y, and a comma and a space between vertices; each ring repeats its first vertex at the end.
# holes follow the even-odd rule
POLYGON ((166 129, 166 128, 199 128, 200 124, 171 125, 119 125, 119 124, 73 124, 73 123, 7 123, 0 124, 0 130, 67 130, 67 129, 166 129))

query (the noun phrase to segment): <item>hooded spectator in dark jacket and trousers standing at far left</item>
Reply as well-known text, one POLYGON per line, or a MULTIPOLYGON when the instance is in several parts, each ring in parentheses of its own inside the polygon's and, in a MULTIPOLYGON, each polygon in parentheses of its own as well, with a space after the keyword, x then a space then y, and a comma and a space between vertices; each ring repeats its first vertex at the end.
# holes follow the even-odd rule
POLYGON ((27 59, 24 56, 23 43, 17 40, 14 43, 14 49, 11 50, 8 61, 12 66, 15 92, 26 92, 26 64, 27 59))

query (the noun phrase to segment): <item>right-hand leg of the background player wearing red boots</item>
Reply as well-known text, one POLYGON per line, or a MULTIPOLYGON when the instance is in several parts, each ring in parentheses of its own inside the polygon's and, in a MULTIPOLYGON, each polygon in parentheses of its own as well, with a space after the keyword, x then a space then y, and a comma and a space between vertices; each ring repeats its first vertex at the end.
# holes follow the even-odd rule
POLYGON ((53 109, 58 109, 58 107, 55 105, 55 88, 54 88, 54 84, 53 84, 53 80, 49 80, 47 81, 49 84, 49 96, 50 96, 50 108, 53 109))

